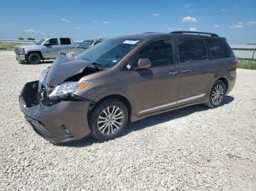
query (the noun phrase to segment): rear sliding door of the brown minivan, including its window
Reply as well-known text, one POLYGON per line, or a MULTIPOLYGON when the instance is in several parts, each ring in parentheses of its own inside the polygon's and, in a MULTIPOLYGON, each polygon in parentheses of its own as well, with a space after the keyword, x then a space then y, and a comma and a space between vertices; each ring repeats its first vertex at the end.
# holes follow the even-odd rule
POLYGON ((214 77, 213 68, 208 64, 205 39, 177 38, 175 44, 180 73, 177 105, 203 100, 214 77))

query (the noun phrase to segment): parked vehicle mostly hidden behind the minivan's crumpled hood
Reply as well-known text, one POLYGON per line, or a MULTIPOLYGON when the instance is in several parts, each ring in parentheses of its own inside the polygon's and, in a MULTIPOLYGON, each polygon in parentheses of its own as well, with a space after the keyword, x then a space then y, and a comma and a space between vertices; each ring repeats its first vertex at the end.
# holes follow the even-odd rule
POLYGON ((61 52, 62 55, 67 55, 67 57, 75 58, 75 56, 79 55, 83 51, 93 47, 94 45, 102 42, 104 39, 92 39, 92 40, 85 40, 79 44, 78 47, 74 48, 72 52, 61 52))

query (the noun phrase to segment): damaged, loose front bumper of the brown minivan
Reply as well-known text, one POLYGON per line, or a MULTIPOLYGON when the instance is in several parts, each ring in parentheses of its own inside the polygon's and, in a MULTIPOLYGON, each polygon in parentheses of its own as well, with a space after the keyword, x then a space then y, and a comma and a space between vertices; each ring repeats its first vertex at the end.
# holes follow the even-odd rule
POLYGON ((87 113, 91 101, 60 101, 52 106, 39 104, 38 81, 26 83, 19 96, 26 120, 53 144, 75 141, 89 135, 87 113))

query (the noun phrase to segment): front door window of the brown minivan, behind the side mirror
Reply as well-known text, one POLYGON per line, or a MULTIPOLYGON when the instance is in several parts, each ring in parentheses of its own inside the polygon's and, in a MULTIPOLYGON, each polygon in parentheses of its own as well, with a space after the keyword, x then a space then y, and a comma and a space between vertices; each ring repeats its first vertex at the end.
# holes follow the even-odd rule
POLYGON ((148 58, 151 67, 166 66, 173 63, 173 52, 170 40, 159 40, 143 47, 138 52, 138 59, 148 58))

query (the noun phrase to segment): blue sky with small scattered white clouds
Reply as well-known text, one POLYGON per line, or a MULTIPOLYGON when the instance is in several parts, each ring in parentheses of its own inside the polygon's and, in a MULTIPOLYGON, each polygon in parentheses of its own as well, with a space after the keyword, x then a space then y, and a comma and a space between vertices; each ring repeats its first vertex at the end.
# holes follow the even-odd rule
POLYGON ((256 1, 0 1, 0 39, 112 38, 143 32, 206 31, 231 44, 256 43, 256 1))

